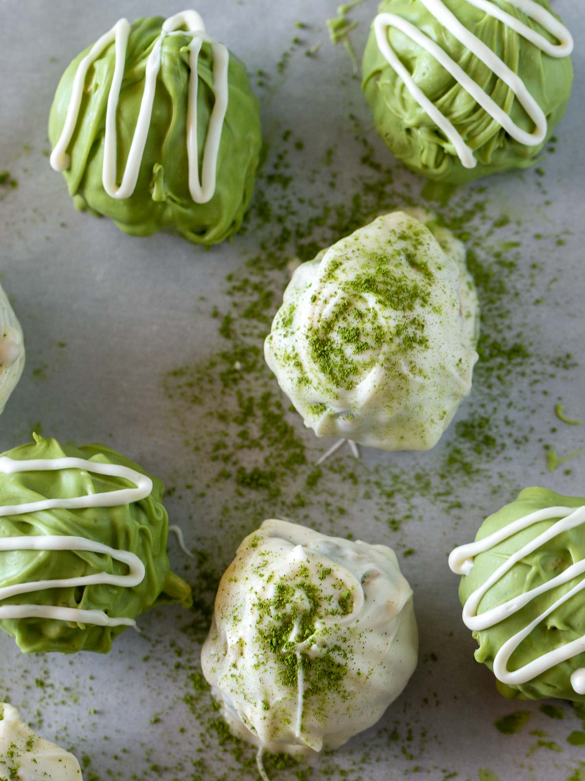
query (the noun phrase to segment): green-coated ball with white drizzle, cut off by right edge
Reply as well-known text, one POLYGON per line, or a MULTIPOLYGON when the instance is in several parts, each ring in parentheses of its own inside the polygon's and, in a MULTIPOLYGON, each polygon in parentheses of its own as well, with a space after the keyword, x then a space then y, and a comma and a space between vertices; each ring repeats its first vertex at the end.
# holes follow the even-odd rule
POLYGON ((505 697, 585 701, 585 497, 527 488, 449 566, 477 662, 505 697))

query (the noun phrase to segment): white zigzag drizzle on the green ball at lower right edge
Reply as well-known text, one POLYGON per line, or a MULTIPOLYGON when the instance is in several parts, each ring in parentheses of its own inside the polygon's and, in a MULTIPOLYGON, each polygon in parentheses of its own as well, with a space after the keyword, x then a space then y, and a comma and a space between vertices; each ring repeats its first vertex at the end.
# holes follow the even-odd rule
MULTIPOLYGON (((489 576, 488 580, 486 580, 482 586, 473 591, 473 594, 470 595, 463 606, 463 622, 472 631, 480 632, 482 629, 489 629, 491 626, 495 626, 504 621, 510 615, 514 615, 540 594, 546 594, 548 591, 551 591, 558 586, 562 586, 564 583, 569 583, 573 578, 581 576, 580 583, 577 583, 576 586, 567 591, 566 594, 559 597, 558 600, 551 604, 551 606, 542 612, 541 615, 538 615, 534 621, 527 624, 524 629, 521 629, 510 637, 509 640, 506 640, 495 655, 494 675, 499 681, 508 686, 521 686, 523 683, 528 683, 555 665, 566 662, 568 659, 585 651, 585 635, 583 635, 577 640, 572 640, 552 651, 542 654, 532 662, 528 662, 517 670, 513 670, 512 672, 508 670, 510 657, 514 651, 516 651, 516 648, 519 647, 519 644, 530 635, 532 630, 571 597, 579 594, 585 589, 585 559, 575 562, 546 583, 542 583, 540 586, 534 587, 523 594, 519 594, 517 597, 509 599, 508 601, 497 605, 495 608, 480 613, 480 615, 477 615, 477 608, 488 590, 491 589, 495 583, 498 583, 498 580, 505 576, 514 565, 522 561, 525 556, 537 550, 538 547, 546 544, 548 540, 551 540, 558 534, 574 529, 576 526, 581 526, 585 523, 585 506, 579 508, 561 506, 548 507, 537 510, 536 512, 531 512, 530 515, 524 515, 523 518, 519 518, 518 520, 509 523, 508 526, 504 526, 503 529, 490 534, 488 537, 484 537, 483 540, 477 540, 477 542, 456 547, 455 550, 451 552, 451 555, 449 555, 449 567, 452 569, 452 572, 455 572, 457 575, 469 575, 473 569, 473 558, 477 555, 491 550, 495 545, 500 544, 504 540, 508 540, 509 537, 533 526, 535 523, 551 520, 553 518, 558 518, 559 520, 549 526, 543 533, 534 537, 534 540, 530 540, 529 543, 519 548, 516 553, 510 555, 495 572, 492 572, 491 576, 489 576)), ((585 669, 580 668, 573 672, 571 676, 571 685, 577 694, 585 694, 585 669)))

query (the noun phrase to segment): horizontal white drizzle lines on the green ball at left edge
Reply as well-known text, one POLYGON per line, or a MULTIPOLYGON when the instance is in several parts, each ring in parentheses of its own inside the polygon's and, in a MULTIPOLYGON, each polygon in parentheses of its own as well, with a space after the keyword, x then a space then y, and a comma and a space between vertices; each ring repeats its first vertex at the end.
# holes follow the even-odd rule
MULTIPOLYGON (((22 472, 55 472, 61 469, 83 469, 86 472, 119 477, 135 484, 135 488, 121 488, 86 496, 42 499, 20 505, 0 506, 0 518, 8 515, 27 515, 51 509, 82 509, 92 507, 117 507, 140 501, 151 494, 152 480, 135 469, 119 464, 103 464, 83 458, 33 458, 19 461, 8 456, 0 458, 0 473, 11 475, 22 472)), ((118 551, 108 545, 87 540, 84 537, 43 534, 27 537, 0 537, 0 551, 90 551, 109 556, 129 568, 126 575, 96 572, 94 575, 58 580, 37 580, 30 583, 16 583, 0 587, 0 601, 20 594, 30 594, 50 588, 76 588, 96 585, 134 587, 144 580, 145 569, 137 555, 129 551, 118 551)), ((95 626, 135 626, 128 618, 112 618, 102 610, 82 610, 46 604, 0 604, 0 619, 43 618, 68 621, 95 626)))

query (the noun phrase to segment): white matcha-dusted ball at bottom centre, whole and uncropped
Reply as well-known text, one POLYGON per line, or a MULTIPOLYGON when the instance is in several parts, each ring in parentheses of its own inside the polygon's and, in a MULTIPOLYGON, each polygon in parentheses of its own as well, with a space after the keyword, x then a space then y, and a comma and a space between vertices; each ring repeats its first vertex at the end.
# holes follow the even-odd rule
POLYGON ((268 520, 222 577, 201 663, 233 733, 310 754, 377 722, 417 654, 394 551, 268 520))

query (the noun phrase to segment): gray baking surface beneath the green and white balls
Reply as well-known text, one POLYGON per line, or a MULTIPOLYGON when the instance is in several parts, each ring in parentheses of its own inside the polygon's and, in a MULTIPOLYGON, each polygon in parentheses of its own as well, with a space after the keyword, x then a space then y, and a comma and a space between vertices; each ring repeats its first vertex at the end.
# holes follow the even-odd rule
MULTIPOLYGON (((464 225, 470 241, 482 245, 488 232, 485 243, 492 257, 513 257, 513 267, 505 262, 492 267, 505 279, 500 294, 505 302, 493 301, 492 291, 484 318, 505 318, 503 330, 521 331, 532 357, 511 369, 506 353, 502 376, 499 369, 491 373, 489 387, 480 387, 488 375, 478 367, 471 397, 456 417, 463 426, 452 424, 433 451, 366 451, 360 464, 341 451, 328 462, 304 508, 294 497, 310 493, 306 467, 292 469, 275 498, 273 512, 289 519, 395 547, 413 586, 420 627, 420 664, 402 696, 377 726, 335 755, 319 758, 312 778, 321 772, 333 779, 585 778, 585 747, 576 745, 578 733, 585 735, 572 705, 551 701, 552 707, 541 708, 537 702, 505 701, 488 669, 474 661, 475 643, 460 618, 458 578, 446 560, 455 544, 473 539, 481 519, 521 487, 540 484, 561 493, 585 493, 585 455, 549 473, 544 450, 550 444, 567 455, 585 444, 585 427, 555 418, 555 404, 562 401, 569 416, 585 419, 585 25, 580 2, 555 0, 553 6, 576 37, 576 81, 556 133, 556 151, 538 172, 491 177, 470 187, 468 203, 484 205, 473 209, 464 225), (490 232, 488 226, 502 215, 510 223, 490 232), (500 249, 494 250, 498 243, 500 249), (479 464, 471 472, 463 469, 459 477, 461 466, 451 465, 444 476, 441 459, 456 454, 458 437, 468 442, 465 422, 482 410, 488 431, 498 418, 492 431, 496 442, 479 441, 473 452, 465 451, 479 464), (399 477, 391 489, 384 481, 392 475, 399 477), (367 490, 361 489, 364 483, 367 490), (517 711, 523 715, 499 722, 501 729, 495 726, 517 711)), ((207 30, 225 41, 250 73, 265 73, 253 78, 268 141, 265 173, 274 173, 281 147, 288 144, 293 165, 284 170, 293 181, 285 186, 278 177, 264 178, 258 192, 270 198, 280 187, 278 198, 290 197, 295 204, 296 223, 321 212, 325 198, 334 206, 349 205, 367 177, 378 176, 361 159, 363 139, 394 172, 388 187, 392 195, 378 206, 389 209, 402 198, 423 202, 420 178, 393 161, 372 130, 345 48, 328 40, 325 20, 335 16, 335 7, 335 0, 200 0, 197 6, 207 30), (296 27, 299 20, 308 27, 296 27), (295 36, 300 43, 291 43, 295 36), (319 42, 316 52, 304 55, 319 42), (289 49, 281 73, 277 62, 289 49), (293 130, 292 138, 283 141, 287 129, 293 130), (294 139, 303 141, 302 150, 294 147, 294 139), (334 152, 328 159, 330 148, 334 152), (332 179, 335 188, 329 187, 332 179)), ((375 7, 366 0, 351 12, 351 19, 359 21, 351 34, 358 55, 375 7)), ((262 515, 271 514, 271 495, 262 487, 236 490, 233 480, 216 480, 209 443, 220 427, 218 405, 229 408, 233 394, 216 397, 210 390, 209 398, 193 405, 184 388, 177 392, 176 378, 186 373, 197 383, 197 366, 208 367, 215 351, 229 344, 211 316, 214 305, 220 316, 233 308, 232 329, 254 330, 250 320, 238 319, 238 294, 226 296, 225 277, 246 277, 244 262, 274 228, 262 223, 256 230, 253 216, 245 234, 207 252, 179 237, 128 237, 105 219, 76 212, 46 156, 48 110, 68 62, 119 16, 169 16, 180 9, 174 0, 3 0, 0 6, 0 169, 18 181, 18 187, 0 190, 0 268, 27 339, 23 379, 0 419, 0 450, 29 440, 39 425, 45 436, 118 448, 176 488, 167 501, 169 514, 183 528, 187 545, 199 551, 190 563, 169 540, 173 567, 196 589, 193 613, 173 607, 144 615, 142 634, 122 634, 108 656, 26 656, 12 638, 0 637, 0 701, 9 698, 44 736, 84 756, 85 777, 94 781, 256 776, 253 752, 223 741, 208 694, 195 700, 192 695, 197 694, 198 642, 208 618, 201 604, 208 608, 210 584, 232 559, 239 540, 262 515), (187 368, 173 373, 179 367, 187 368), (200 569, 212 573, 207 580, 200 569)), ((463 191, 449 204, 451 216, 464 214, 466 198, 463 191)), ((333 229, 323 235, 335 240, 333 229)), ((276 282, 281 291, 284 268, 276 282)), ((274 287, 274 270, 266 284, 274 287)), ((277 304, 275 295, 270 315, 277 304)), ((495 323, 484 327, 493 329, 495 323)), ((263 381, 278 398, 275 381, 263 381)), ((298 416, 285 415, 313 461, 323 443, 303 430, 298 416)), ((229 413, 226 420, 225 437, 234 437, 229 413)), ((242 458, 256 455, 244 451, 242 458)), ((269 772, 287 781, 306 778, 305 768, 303 763, 289 769, 271 765, 269 772)))

